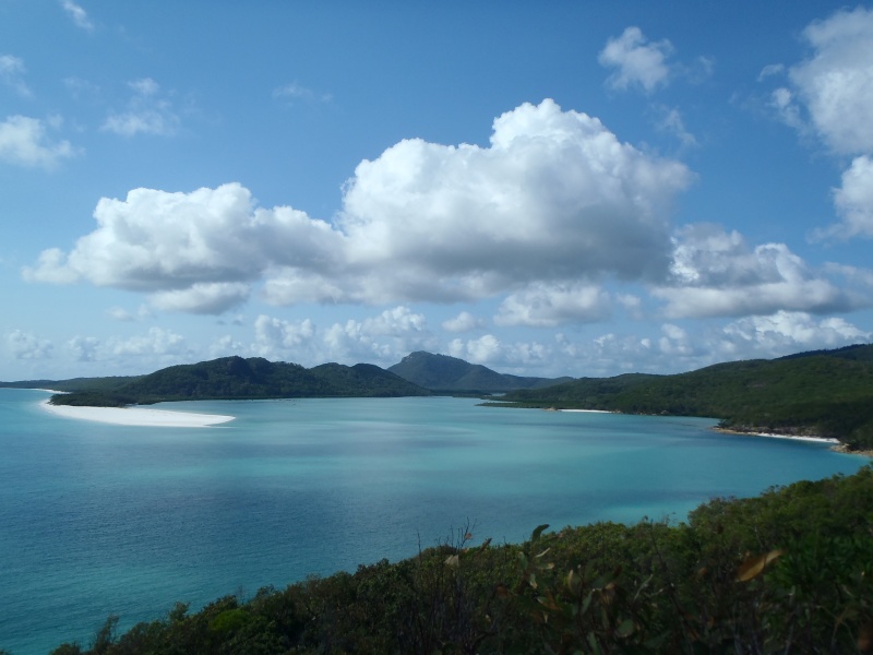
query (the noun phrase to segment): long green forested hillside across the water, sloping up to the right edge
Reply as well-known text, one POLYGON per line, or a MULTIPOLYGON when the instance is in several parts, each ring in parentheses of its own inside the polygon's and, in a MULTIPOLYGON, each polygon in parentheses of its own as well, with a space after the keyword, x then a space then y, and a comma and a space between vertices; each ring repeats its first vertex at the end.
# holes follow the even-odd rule
POLYGON ((528 407, 722 419, 743 431, 834 437, 873 448, 873 345, 718 364, 674 376, 581 378, 503 400, 528 407))

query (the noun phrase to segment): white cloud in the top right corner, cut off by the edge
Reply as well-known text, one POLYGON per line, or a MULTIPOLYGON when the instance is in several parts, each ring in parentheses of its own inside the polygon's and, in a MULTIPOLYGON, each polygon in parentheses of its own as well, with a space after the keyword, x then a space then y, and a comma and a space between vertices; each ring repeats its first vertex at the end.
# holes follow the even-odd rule
POLYGON ((873 11, 838 11, 803 36, 813 53, 789 69, 791 88, 774 97, 782 116, 798 128, 808 120, 837 154, 873 151, 873 11))

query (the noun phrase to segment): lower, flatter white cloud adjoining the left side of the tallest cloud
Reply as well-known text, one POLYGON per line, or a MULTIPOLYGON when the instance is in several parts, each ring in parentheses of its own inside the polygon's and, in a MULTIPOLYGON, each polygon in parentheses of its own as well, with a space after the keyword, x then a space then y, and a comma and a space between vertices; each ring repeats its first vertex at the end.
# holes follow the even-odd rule
POLYGON ((243 302, 250 283, 273 265, 328 261, 339 236, 290 207, 255 209, 239 184, 166 193, 135 189, 125 200, 101 199, 97 229, 69 254, 44 251, 26 279, 86 279, 152 294, 171 311, 218 313, 243 302))

